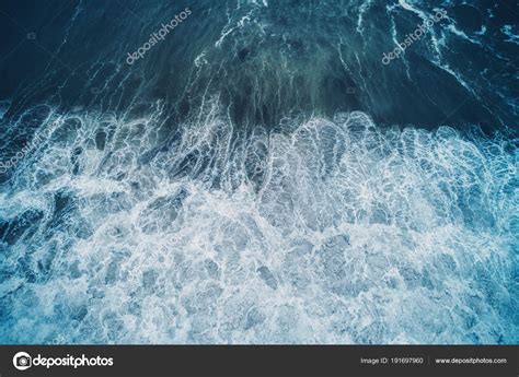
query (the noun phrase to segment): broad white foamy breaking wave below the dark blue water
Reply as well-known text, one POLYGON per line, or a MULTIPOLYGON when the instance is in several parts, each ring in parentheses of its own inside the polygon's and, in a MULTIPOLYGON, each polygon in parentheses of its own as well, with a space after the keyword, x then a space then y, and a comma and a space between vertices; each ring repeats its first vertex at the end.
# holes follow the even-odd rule
POLYGON ((2 343, 516 343, 517 140, 364 113, 164 139, 48 106, 0 193, 2 343))

